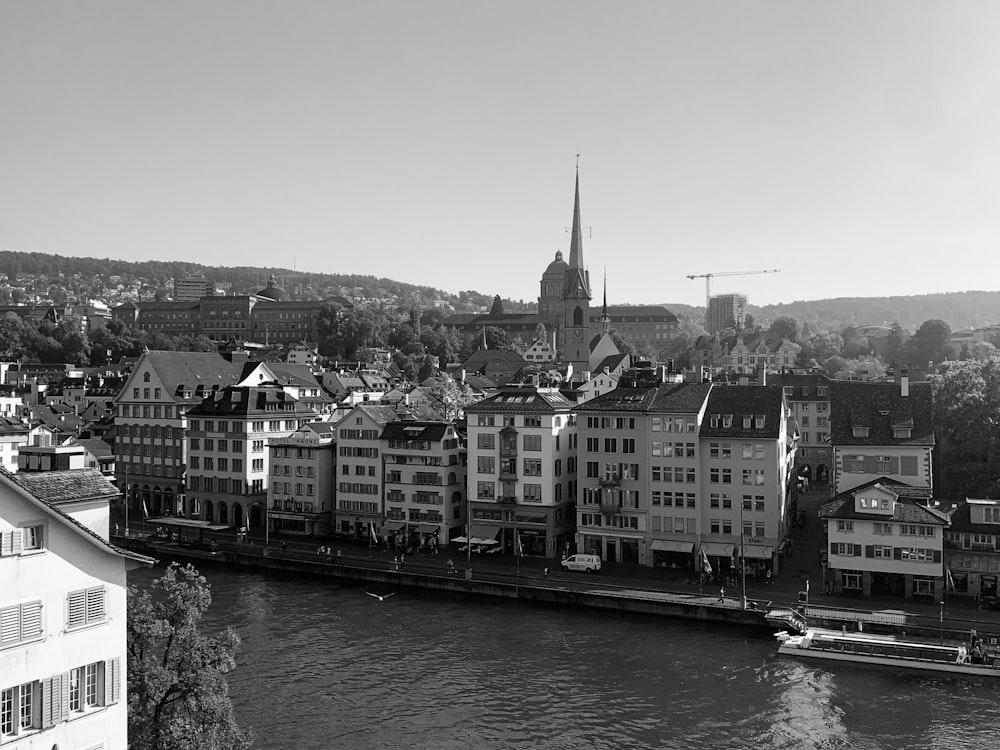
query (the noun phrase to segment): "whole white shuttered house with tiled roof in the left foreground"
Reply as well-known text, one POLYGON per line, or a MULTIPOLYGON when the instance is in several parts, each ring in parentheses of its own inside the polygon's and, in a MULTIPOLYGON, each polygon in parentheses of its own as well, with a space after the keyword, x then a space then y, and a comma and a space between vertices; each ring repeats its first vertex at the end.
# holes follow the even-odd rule
POLYGON ((154 561, 92 530, 99 472, 44 479, 0 471, 0 746, 126 750, 126 572, 154 561))

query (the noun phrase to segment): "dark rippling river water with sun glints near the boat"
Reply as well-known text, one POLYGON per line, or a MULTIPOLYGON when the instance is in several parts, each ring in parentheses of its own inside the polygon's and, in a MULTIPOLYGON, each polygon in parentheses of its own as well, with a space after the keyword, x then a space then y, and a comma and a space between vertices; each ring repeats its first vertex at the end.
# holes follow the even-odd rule
POLYGON ((668 618, 202 572, 207 629, 243 639, 230 689, 259 748, 1000 746, 1000 680, 800 662, 766 632, 668 618))

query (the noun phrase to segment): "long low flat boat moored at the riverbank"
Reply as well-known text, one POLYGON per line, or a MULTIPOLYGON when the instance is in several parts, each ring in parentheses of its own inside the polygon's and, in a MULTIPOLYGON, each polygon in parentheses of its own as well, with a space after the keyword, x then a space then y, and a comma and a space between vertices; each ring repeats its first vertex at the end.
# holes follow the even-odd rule
POLYGON ((788 656, 1000 677, 997 658, 987 654, 974 659, 965 644, 927 643, 887 635, 810 627, 801 633, 782 630, 775 637, 779 643, 778 653, 788 656))

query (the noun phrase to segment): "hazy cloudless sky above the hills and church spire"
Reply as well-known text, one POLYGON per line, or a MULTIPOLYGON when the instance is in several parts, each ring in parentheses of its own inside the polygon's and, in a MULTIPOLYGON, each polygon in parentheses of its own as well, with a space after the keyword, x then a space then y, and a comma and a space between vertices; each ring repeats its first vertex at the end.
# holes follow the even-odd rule
POLYGON ((0 4, 0 248, 611 302, 998 289, 1000 3, 0 4))

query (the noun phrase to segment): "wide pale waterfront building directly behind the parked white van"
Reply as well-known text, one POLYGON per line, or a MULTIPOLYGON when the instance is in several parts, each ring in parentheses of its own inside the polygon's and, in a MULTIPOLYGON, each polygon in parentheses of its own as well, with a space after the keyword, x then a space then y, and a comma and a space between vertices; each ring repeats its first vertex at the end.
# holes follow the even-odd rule
POLYGON ((577 551, 608 562, 691 566, 700 539, 699 431, 711 384, 628 370, 577 409, 577 551))

